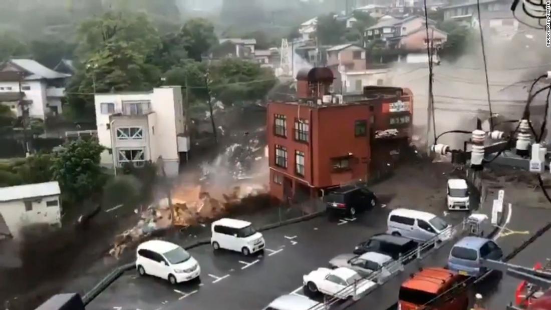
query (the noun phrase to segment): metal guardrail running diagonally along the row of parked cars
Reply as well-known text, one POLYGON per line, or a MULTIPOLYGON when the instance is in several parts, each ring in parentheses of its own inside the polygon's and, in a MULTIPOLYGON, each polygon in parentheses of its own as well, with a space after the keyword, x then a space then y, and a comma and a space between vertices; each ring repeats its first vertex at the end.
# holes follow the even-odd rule
MULTIPOLYGON (((422 244, 419 244, 413 251, 410 251, 406 255, 401 256, 397 260, 391 260, 390 262, 384 264, 381 266, 380 269, 370 273, 369 275, 361 278, 360 280, 357 280, 354 282, 354 284, 348 285, 344 287, 341 291, 338 291, 335 295, 336 296, 350 296, 350 293, 352 292, 352 300, 358 301, 360 298, 368 295, 372 291, 376 290, 383 284, 385 284, 388 280, 392 278, 392 275, 396 275, 399 271, 403 270, 404 265, 411 262, 414 259, 422 259, 422 253, 428 253, 430 249, 438 249, 445 243, 448 243, 452 240, 455 240, 457 236, 467 231, 467 218, 463 219, 463 221, 460 224, 457 224, 456 226, 449 227, 448 229, 440 232, 438 235, 433 237, 431 240, 425 241, 422 244), (450 237, 447 238, 445 241, 441 241, 442 236, 446 236, 447 234, 450 234, 450 237), (379 279, 379 275, 382 273, 382 268, 386 268, 387 270, 394 270, 393 273, 391 273, 391 276, 388 276, 384 281, 377 281, 379 279), (360 295, 357 294, 357 288, 358 284, 362 285, 365 281, 373 281, 375 282, 375 285, 371 286, 368 290, 361 293, 360 295)), ((338 301, 341 301, 342 298, 339 297, 332 297, 328 300, 324 300, 321 303, 318 303, 316 306, 313 306, 309 308, 308 310, 325 310, 329 309, 329 307, 333 306, 333 304, 336 304, 338 301)))

